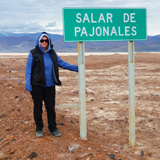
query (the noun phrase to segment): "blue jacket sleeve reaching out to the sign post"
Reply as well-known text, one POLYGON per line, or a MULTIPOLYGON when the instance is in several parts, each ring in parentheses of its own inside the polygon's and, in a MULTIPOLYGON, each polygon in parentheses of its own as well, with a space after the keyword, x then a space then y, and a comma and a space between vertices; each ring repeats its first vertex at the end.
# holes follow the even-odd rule
POLYGON ((59 67, 61 67, 63 69, 68 69, 70 71, 78 72, 78 66, 77 65, 72 65, 68 62, 63 61, 61 58, 59 58, 58 55, 57 55, 57 64, 58 64, 59 67))

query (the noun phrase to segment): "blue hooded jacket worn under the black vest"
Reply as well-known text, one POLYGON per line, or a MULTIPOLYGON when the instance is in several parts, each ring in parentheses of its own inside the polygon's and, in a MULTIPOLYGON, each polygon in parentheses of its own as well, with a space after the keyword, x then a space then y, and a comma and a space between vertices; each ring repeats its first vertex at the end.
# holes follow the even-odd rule
MULTIPOLYGON (((43 53, 43 60, 44 60, 44 73, 45 73, 45 81, 46 81, 46 85, 43 87, 51 87, 54 86, 54 79, 53 79, 53 61, 50 57, 49 51, 53 48, 53 45, 51 43, 51 38, 49 37, 49 35, 46 32, 42 32, 36 42, 36 46, 39 47, 39 49, 42 51, 43 53), (48 44, 48 49, 44 52, 44 48, 40 46, 40 40, 42 39, 42 37, 48 37, 49 40, 49 44, 48 44)), ((77 65, 71 65, 65 61, 63 61, 61 58, 59 58, 59 56, 56 54, 57 56, 57 64, 59 67, 63 68, 63 69, 68 69, 70 71, 75 71, 78 72, 78 66, 77 65)), ((25 89, 26 91, 31 92, 32 91, 32 85, 31 85, 31 74, 32 74, 32 68, 34 65, 34 59, 33 59, 33 55, 30 52, 27 58, 27 63, 26 63, 26 70, 25 70, 25 80, 26 80, 26 86, 25 89)))

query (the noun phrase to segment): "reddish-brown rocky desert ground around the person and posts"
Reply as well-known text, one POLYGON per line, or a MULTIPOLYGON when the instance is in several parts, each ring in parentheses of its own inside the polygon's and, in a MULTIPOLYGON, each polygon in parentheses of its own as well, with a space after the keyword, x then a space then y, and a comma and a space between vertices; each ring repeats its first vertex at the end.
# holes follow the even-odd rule
MULTIPOLYGON (((78 64, 78 54, 60 57, 78 64)), ((25 91, 27 55, 0 55, 0 160, 159 160, 160 53, 135 53, 136 145, 129 147, 128 55, 85 56, 87 139, 80 138, 78 73, 60 69, 58 130, 36 138, 25 91), (74 150, 71 147, 76 146, 74 150)))

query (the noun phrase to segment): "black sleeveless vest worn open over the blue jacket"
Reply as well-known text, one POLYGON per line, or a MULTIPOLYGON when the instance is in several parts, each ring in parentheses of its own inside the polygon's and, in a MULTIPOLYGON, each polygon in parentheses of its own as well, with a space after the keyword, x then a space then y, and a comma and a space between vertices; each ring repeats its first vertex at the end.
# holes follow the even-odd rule
MULTIPOLYGON (((31 84, 32 85, 46 85, 45 74, 44 74, 44 61, 43 53, 38 46, 31 50, 34 59, 34 65, 31 73, 31 84)), ((59 70, 57 64, 57 56, 54 49, 49 51, 51 59, 53 61, 53 79, 56 85, 61 85, 59 80, 59 70)))

